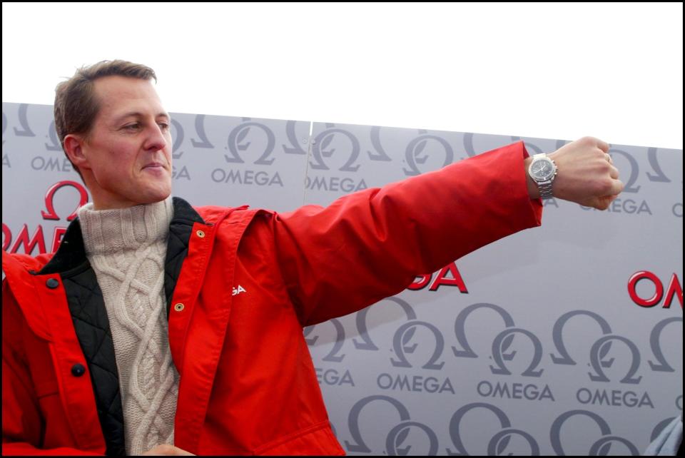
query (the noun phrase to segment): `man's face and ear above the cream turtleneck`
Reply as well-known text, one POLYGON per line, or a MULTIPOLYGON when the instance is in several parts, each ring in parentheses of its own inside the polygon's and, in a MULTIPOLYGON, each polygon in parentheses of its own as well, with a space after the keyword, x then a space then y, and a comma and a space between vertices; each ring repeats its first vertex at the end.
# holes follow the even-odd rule
POLYGON ((95 81, 100 105, 80 143, 83 173, 97 210, 155 203, 171 194, 170 118, 151 81, 95 81))

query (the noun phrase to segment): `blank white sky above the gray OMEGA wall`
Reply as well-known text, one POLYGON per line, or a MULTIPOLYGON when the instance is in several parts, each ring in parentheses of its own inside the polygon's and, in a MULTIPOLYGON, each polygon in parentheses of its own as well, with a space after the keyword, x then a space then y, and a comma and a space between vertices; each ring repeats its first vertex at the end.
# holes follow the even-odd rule
POLYGON ((683 148, 683 4, 2 4, 2 100, 83 64, 168 111, 683 148))

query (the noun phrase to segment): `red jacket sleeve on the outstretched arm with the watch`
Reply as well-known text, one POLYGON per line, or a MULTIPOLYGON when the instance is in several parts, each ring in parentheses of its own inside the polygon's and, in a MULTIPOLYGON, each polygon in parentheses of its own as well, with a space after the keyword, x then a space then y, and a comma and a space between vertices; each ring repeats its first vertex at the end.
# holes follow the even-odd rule
POLYGON ((327 208, 275 214, 275 250, 303 326, 395 295, 499 238, 540 225, 529 198, 522 141, 327 208))

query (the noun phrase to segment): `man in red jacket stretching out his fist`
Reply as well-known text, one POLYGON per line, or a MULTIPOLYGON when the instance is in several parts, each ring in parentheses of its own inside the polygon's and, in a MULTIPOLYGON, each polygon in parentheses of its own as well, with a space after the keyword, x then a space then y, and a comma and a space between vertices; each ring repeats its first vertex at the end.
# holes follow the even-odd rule
POLYGON ((192 208, 170 196, 153 78, 104 61, 57 87, 92 203, 54 255, 3 253, 4 454, 343 454, 303 327, 540 225, 541 192, 606 209, 623 188, 588 137, 549 157, 514 143, 328 208, 192 208))

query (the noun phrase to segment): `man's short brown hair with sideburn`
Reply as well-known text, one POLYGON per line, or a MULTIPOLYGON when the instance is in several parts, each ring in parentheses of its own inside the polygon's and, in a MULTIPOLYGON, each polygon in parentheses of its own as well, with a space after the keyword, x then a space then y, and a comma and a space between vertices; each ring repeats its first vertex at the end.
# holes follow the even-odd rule
MULTIPOLYGON (((64 150, 64 137, 68 134, 83 133, 87 137, 93 127, 93 122, 100 110, 93 83, 98 78, 115 75, 157 81, 152 68, 128 61, 100 61, 91 66, 78 68, 71 78, 62 81, 55 88, 55 129, 62 150, 64 150)), ((69 161, 71 162, 71 159, 69 161)), ((81 171, 73 163, 71 165, 78 175, 81 175, 81 171)))

